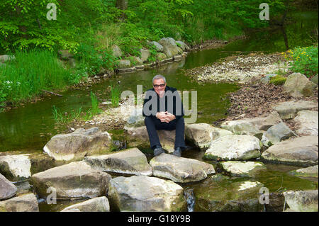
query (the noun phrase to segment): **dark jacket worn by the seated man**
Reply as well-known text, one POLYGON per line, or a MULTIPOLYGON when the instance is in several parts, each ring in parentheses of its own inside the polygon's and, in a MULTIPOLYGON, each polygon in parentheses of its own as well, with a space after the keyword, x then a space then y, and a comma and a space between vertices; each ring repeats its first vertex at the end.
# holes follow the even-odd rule
MULTIPOLYGON (((145 93, 145 99, 143 104, 143 116, 145 117, 156 118, 156 113, 160 112, 161 110, 159 109, 159 96, 155 94, 156 93, 154 88, 148 89, 145 93), (157 107, 157 109, 156 108, 152 109, 152 106, 157 107)), ((175 115, 176 119, 179 119, 184 116, 183 103, 181 101, 181 96, 179 96, 179 93, 177 92, 177 89, 166 86, 163 101, 164 101, 164 98, 165 98, 164 111, 168 111, 169 113, 175 115)))

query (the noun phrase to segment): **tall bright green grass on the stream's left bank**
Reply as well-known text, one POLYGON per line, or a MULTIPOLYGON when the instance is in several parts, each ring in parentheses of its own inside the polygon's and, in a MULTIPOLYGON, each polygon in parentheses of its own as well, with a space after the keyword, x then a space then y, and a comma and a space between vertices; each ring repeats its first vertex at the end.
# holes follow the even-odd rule
POLYGON ((6 101, 16 103, 40 94, 42 89, 61 89, 69 84, 70 72, 49 50, 16 52, 16 60, 0 67, 0 88, 6 101))

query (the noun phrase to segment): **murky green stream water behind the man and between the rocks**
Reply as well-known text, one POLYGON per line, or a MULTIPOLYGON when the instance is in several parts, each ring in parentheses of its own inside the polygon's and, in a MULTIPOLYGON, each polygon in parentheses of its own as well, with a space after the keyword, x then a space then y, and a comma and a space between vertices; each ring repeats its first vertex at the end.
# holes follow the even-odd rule
MULTIPOLYGON (((9 112, 0 113, 0 152, 43 152, 43 147, 50 140, 50 137, 65 130, 65 128, 55 124, 52 115, 53 105, 60 108, 62 112, 77 110, 79 107, 85 110, 91 104, 89 96, 91 91, 99 94, 99 101, 108 101, 110 99, 106 87, 111 84, 119 84, 122 91, 131 90, 136 94, 137 85, 142 85, 143 91, 150 88, 152 77, 155 74, 163 74, 167 78, 167 85, 176 87, 179 91, 197 91, 197 109, 200 113, 198 113, 196 123, 213 123, 216 120, 225 118, 225 113, 230 104, 227 94, 236 91, 238 86, 236 84, 198 84, 196 81, 186 77, 184 69, 213 63, 223 57, 233 55, 235 52, 244 54, 250 51, 282 52, 286 50, 287 44, 289 48, 311 45, 313 43, 312 34, 315 28, 318 29, 318 13, 295 13, 293 16, 298 17, 298 22, 289 24, 284 30, 278 28, 254 33, 245 40, 237 40, 218 49, 191 52, 181 62, 174 62, 156 69, 117 74, 111 79, 94 84, 89 89, 68 90, 62 93, 62 97, 51 96, 43 101, 29 103, 9 112), (287 38, 284 38, 285 35, 287 38)), ((184 152, 183 157, 203 161, 203 154, 204 152, 199 152, 196 149, 189 149, 184 152)), ((215 162, 209 163, 216 166, 215 162)), ((271 192, 277 191, 279 188, 293 190, 318 188, 318 179, 300 179, 286 174, 288 171, 300 167, 266 165, 267 171, 257 175, 256 180, 264 183, 264 186, 267 186, 271 192)), ((201 192, 203 183, 209 183, 209 179, 181 186, 186 190, 193 189, 194 193, 196 193, 201 192)), ((206 184, 206 186, 210 188, 210 184, 213 183, 206 184)), ((219 186, 218 189, 220 191, 227 190, 227 185, 223 187, 221 183, 219 186)), ((39 206, 40 211, 56 211, 64 204, 46 205, 45 203, 40 203, 39 206)), ((196 206, 196 200, 194 210, 204 210, 196 206)))

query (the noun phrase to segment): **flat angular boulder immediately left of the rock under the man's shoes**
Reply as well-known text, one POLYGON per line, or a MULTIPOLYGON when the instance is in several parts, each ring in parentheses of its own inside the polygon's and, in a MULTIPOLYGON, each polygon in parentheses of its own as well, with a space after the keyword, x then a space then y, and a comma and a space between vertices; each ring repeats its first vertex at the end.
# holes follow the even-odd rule
POLYGON ((114 154, 85 157, 84 162, 101 171, 152 176, 152 167, 148 164, 145 154, 137 148, 114 154))

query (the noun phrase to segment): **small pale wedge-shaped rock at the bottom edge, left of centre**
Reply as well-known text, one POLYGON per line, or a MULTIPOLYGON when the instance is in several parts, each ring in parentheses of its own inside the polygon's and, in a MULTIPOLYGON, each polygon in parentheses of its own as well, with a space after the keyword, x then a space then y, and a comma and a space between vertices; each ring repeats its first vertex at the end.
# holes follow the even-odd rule
POLYGON ((108 198, 102 196, 70 205, 61 212, 110 212, 110 204, 108 198))

